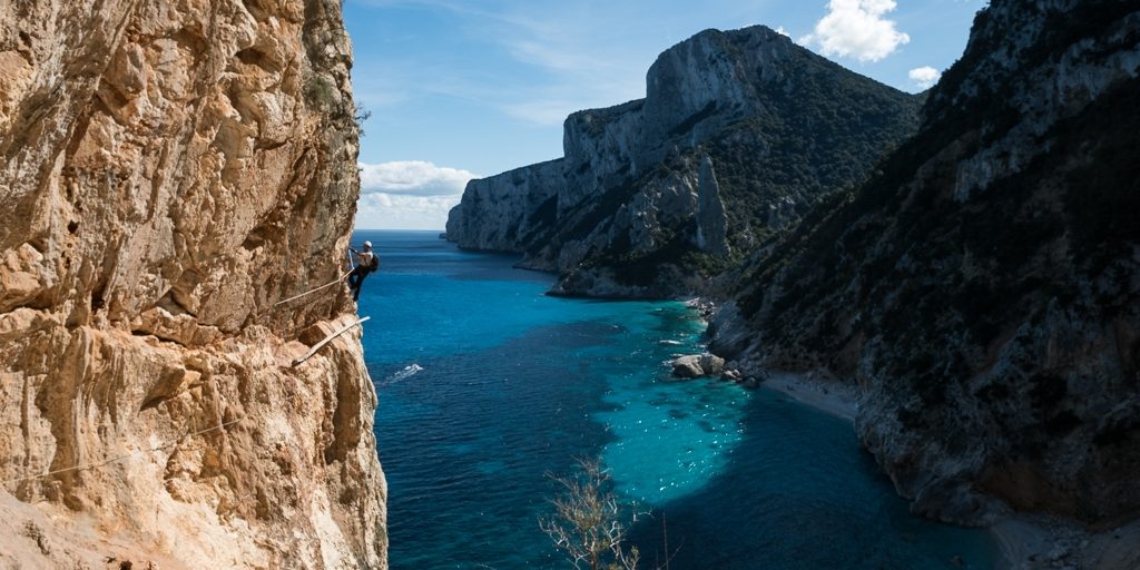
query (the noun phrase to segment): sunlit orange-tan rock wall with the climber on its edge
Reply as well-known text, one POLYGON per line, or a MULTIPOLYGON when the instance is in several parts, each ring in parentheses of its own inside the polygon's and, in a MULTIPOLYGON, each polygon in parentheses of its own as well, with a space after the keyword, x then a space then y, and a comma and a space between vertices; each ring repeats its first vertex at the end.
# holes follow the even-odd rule
POLYGON ((350 65, 339 0, 0 5, 0 561, 386 567, 359 333, 290 366, 351 300, 279 303, 341 274, 350 65))

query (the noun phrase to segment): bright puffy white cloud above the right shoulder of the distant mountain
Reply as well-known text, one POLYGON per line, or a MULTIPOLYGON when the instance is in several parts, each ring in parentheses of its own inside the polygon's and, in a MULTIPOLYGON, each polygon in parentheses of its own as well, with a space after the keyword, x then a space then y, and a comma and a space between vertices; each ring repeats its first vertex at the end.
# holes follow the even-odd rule
POLYGON ((883 18, 895 7, 895 0, 831 0, 815 31, 798 43, 819 46, 825 56, 878 62, 911 41, 895 30, 894 21, 883 18))

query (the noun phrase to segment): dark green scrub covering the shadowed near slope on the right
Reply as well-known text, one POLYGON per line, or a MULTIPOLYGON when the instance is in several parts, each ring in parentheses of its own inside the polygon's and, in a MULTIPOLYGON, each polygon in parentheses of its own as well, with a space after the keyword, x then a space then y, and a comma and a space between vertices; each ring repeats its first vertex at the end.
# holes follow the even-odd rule
MULTIPOLYGON (((1124 9, 1109 5, 1090 2, 1081 10, 1096 13, 1089 17, 1104 30, 1124 9)), ((976 27, 988 17, 982 13, 976 27)), ((1051 23, 1043 42, 1023 57, 1048 62, 1089 33, 1075 17, 1066 28, 1068 19, 1051 23)), ((934 90, 925 111, 931 119, 917 136, 856 189, 820 198, 797 227, 762 244, 764 253, 742 270, 742 312, 775 352, 833 355, 856 339, 882 339, 873 352, 876 373, 897 378, 921 402, 898 410, 906 426, 929 425, 920 414, 944 402, 953 383, 964 388, 985 372, 995 347, 1039 350, 1020 326, 1040 329, 1050 310, 1093 323, 1137 315, 1134 292, 1124 284, 1135 275, 1140 251, 1140 80, 1123 82, 1052 125, 1036 140, 1042 150, 1016 174, 959 202, 960 161, 1024 120, 1005 103, 1010 78, 994 78, 993 90, 977 97, 952 97, 971 66, 992 52, 986 41, 971 43, 934 90)), ((842 365, 832 372, 855 373, 854 359, 842 365)), ((1004 374, 1029 375, 1042 365, 1018 363, 1019 370, 1004 374)), ((1124 377, 1138 374, 1137 363, 1124 359, 1122 366, 1124 377)), ((1060 405, 1062 378, 1064 368, 1023 378, 1034 386, 1027 394, 1033 413, 1052 437, 1080 425, 1060 405)), ((1019 397, 993 384, 975 396, 991 402, 1019 397)), ((1123 441, 1131 429, 1098 438, 1123 441)))

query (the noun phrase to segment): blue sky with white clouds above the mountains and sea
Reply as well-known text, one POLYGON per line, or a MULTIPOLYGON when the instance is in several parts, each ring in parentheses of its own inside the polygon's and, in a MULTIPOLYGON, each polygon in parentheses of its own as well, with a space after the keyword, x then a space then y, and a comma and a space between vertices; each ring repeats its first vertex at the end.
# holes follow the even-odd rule
POLYGON ((966 48, 986 0, 344 0, 360 144, 357 228, 442 229, 467 180, 562 156, 575 111, 645 96, 710 27, 755 24, 907 92, 966 48))

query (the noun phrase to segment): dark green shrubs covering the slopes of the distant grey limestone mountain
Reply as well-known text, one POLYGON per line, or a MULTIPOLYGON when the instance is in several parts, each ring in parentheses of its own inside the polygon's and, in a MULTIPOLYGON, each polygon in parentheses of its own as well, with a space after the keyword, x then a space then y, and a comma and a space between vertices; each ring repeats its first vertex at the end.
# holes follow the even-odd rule
MULTIPOLYGON (((747 60, 738 46, 746 35, 728 33, 723 39, 730 59, 747 60)), ((684 141, 694 130, 707 132, 710 121, 720 124, 715 132, 701 135, 703 142, 689 148, 678 142, 679 153, 600 193, 586 211, 560 220, 563 227, 555 245, 611 231, 614 213, 636 195, 657 185, 693 180, 701 160, 709 156, 727 214, 731 256, 697 249, 697 225, 690 219, 657 228, 653 251, 634 252, 628 236, 617 231, 604 251, 584 260, 585 267, 611 269, 621 284, 650 286, 662 295, 677 293, 670 286, 679 283, 665 276, 711 277, 739 267, 766 239, 830 203, 829 195, 861 182, 880 156, 918 127, 923 97, 877 83, 796 47, 756 73, 759 78, 750 87, 757 91, 757 104, 742 109, 709 101, 673 125, 667 139, 684 141), (736 119, 725 122, 730 116, 736 119)), ((598 136, 618 111, 641 104, 583 112, 570 121, 584 123, 598 136)))

